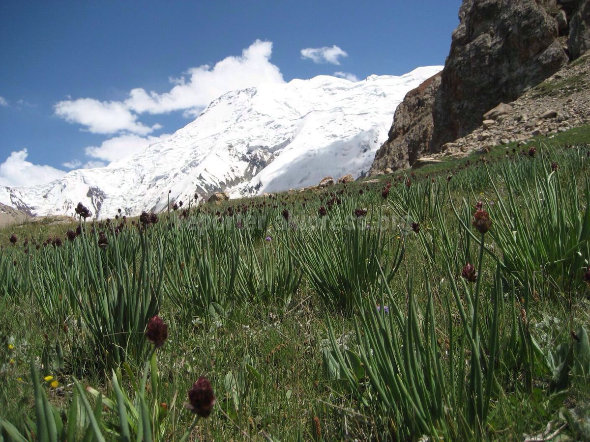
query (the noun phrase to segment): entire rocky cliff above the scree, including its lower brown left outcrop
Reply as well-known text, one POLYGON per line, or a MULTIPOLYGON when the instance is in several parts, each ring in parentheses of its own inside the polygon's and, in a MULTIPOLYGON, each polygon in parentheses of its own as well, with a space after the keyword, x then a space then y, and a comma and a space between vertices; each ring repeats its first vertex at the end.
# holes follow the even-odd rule
POLYGON ((459 19, 440 82, 421 85, 399 105, 395 118, 402 123, 394 121, 372 174, 444 150, 479 127, 491 108, 516 100, 590 48, 589 0, 464 0, 459 19))

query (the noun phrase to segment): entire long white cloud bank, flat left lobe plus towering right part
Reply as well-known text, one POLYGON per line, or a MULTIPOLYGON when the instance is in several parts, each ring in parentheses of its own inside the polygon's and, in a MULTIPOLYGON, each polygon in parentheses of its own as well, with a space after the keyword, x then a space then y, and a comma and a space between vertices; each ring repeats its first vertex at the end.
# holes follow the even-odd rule
POLYGON ((238 57, 226 57, 212 67, 190 68, 180 78, 171 78, 173 87, 168 92, 159 94, 135 88, 124 101, 64 100, 55 104, 55 114, 85 126, 92 133, 146 136, 162 126, 146 126, 138 120, 140 114, 182 110, 186 117, 194 117, 228 91, 261 83, 284 83, 281 71, 270 62, 272 52, 272 42, 256 40, 238 57))

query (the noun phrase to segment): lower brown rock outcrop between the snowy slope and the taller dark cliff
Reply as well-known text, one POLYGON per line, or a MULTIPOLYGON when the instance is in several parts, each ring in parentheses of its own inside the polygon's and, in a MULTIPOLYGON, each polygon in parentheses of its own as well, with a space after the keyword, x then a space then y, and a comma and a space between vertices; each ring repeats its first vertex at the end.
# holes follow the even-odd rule
POLYGON ((388 167, 407 167, 424 153, 432 136, 432 105, 440 83, 438 73, 406 94, 395 110, 388 140, 377 151, 369 174, 388 167))

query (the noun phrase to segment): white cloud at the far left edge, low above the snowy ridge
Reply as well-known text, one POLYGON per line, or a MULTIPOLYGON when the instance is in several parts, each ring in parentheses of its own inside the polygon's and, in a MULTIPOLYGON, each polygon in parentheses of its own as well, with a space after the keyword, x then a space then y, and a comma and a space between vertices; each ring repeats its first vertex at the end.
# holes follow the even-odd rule
POLYGON ((0 164, 1 186, 32 186, 51 182, 63 176, 63 170, 51 166, 40 166, 27 161, 27 149, 12 152, 0 164))

